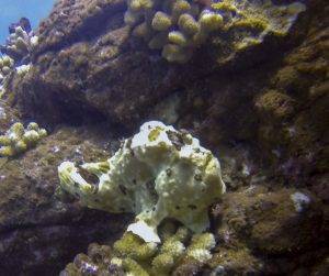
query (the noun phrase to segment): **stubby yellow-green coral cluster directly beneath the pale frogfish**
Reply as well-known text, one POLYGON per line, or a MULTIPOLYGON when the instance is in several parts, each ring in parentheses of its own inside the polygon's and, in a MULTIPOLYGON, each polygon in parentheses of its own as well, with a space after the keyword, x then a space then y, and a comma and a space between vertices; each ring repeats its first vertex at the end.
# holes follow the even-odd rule
POLYGON ((61 275, 81 275, 87 268, 93 269, 93 275, 102 275, 107 268, 111 275, 166 276, 172 275, 182 264, 203 266, 213 256, 211 251, 216 242, 212 233, 195 234, 191 239, 186 228, 173 227, 168 231, 168 223, 171 224, 167 221, 160 227, 159 232, 163 235, 161 245, 146 243, 137 235, 126 232, 114 243, 113 249, 91 244, 88 255, 78 254, 61 275))

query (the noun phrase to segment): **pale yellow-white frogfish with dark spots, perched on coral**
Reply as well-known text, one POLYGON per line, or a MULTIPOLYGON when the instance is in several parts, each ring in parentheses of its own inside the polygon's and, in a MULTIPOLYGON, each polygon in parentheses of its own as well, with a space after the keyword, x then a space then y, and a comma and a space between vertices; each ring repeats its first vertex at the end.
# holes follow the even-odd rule
POLYGON ((90 208, 134 212, 128 231, 147 242, 160 242, 157 227, 167 217, 194 232, 208 225, 207 208, 225 192, 216 157, 186 132, 151 121, 124 141, 106 162, 71 162, 58 167, 60 187, 90 208), (79 173, 95 175, 97 185, 79 173))

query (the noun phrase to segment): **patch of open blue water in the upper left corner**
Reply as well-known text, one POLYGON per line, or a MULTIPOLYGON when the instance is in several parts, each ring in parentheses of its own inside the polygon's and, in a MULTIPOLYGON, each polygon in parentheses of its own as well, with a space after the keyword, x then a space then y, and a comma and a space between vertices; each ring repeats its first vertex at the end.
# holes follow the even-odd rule
POLYGON ((20 18, 29 18, 32 27, 49 13, 55 0, 1 0, 0 1, 0 44, 8 36, 8 26, 20 18))

